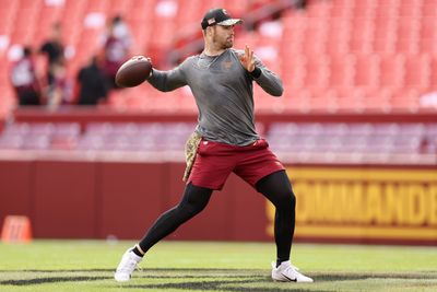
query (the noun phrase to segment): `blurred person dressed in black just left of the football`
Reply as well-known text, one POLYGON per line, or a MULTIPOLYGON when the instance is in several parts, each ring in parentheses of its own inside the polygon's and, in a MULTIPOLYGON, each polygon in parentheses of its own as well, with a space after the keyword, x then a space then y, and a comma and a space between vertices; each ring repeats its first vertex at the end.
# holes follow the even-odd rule
POLYGON ((105 74, 97 63, 97 57, 91 58, 76 75, 79 105, 97 105, 106 101, 108 84, 105 74))

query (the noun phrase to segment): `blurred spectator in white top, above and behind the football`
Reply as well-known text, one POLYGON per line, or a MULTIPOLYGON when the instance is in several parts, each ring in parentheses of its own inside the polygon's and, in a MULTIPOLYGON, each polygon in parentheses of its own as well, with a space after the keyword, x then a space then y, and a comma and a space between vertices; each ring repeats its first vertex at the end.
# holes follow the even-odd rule
POLYGON ((108 33, 104 37, 102 68, 110 89, 117 89, 115 77, 118 68, 128 59, 132 38, 128 25, 120 15, 109 23, 108 33))

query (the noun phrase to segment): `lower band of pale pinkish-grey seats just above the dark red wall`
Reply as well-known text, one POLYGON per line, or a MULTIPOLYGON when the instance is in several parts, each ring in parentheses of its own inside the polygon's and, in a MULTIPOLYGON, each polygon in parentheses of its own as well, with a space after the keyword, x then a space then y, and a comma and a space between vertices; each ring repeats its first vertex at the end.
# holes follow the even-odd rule
MULTIPOLYGON (((44 154, 142 153, 182 160, 190 122, 15 122, 0 136, 0 152, 44 154), (66 152, 67 151, 67 152, 66 152)), ((258 125, 262 130, 262 125, 258 125)), ((272 122, 263 132, 284 162, 344 164, 437 163, 437 124, 272 122)))

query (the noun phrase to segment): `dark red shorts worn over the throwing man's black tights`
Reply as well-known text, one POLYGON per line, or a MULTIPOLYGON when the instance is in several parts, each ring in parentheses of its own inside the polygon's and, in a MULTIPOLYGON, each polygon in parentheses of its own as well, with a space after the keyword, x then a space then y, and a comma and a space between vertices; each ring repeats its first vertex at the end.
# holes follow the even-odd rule
POLYGON ((282 170, 284 166, 263 139, 245 147, 202 140, 187 184, 222 189, 234 172, 255 187, 262 177, 282 170))

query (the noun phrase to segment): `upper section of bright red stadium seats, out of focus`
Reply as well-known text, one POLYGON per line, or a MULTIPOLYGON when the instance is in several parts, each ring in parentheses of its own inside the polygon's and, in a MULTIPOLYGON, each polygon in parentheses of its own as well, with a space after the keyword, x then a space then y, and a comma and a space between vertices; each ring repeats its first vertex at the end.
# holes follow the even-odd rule
MULTIPOLYGON (((0 1, 0 65, 16 45, 39 46, 60 20, 72 50, 71 78, 99 49, 105 21, 120 13, 134 36, 131 54, 161 60, 176 38, 199 28, 210 7, 249 15, 251 1, 235 0, 14 0, 0 1)), ((269 4, 274 0, 255 1, 269 4)), ((435 0, 309 0, 255 31, 238 30, 236 47, 249 44, 284 81, 277 101, 257 89, 257 110, 417 110, 435 107, 437 91, 435 0), (429 95, 428 95, 429 96, 429 95), (433 102, 434 101, 434 102, 433 102)), ((164 62, 165 63, 165 62, 164 62)), ((0 75, 0 115, 14 107, 8 71, 0 75)), ((143 85, 115 93, 110 105, 143 110, 196 112, 190 92, 172 96, 143 85)))

